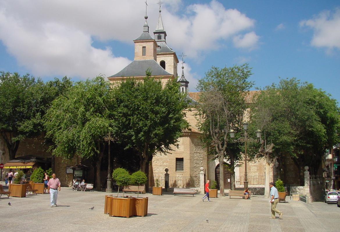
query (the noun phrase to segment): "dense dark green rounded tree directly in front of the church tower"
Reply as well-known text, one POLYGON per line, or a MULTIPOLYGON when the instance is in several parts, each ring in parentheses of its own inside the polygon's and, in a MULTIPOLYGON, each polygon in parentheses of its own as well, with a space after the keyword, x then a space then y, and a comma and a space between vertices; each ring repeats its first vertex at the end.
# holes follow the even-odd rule
MULTIPOLYGON (((149 163, 157 152, 171 151, 188 127, 184 109, 188 103, 179 92, 176 80, 163 87, 160 80, 147 71, 143 81, 129 79, 115 88, 115 121, 126 147, 134 148, 140 160, 140 170, 149 172, 149 163)), ((148 189, 148 183, 146 184, 148 189)))

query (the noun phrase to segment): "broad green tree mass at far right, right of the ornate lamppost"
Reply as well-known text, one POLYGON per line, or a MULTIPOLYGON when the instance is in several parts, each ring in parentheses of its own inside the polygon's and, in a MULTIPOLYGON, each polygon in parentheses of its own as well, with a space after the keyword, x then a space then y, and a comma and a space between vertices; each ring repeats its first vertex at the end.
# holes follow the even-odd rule
MULTIPOLYGON (((317 174, 325 149, 339 142, 337 102, 310 83, 281 79, 261 90, 251 112, 266 141, 275 144, 270 158, 277 158, 278 170, 284 170, 284 155, 290 155, 300 170, 301 184, 303 167, 317 174)), ((285 178, 283 172, 279 174, 285 178)))

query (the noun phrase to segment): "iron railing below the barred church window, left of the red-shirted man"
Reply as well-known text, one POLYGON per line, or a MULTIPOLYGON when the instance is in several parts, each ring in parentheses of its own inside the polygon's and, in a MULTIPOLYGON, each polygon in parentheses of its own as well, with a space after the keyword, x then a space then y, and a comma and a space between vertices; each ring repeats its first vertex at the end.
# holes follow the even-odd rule
MULTIPOLYGON (((164 176, 153 176, 149 179, 149 186, 156 186, 158 180, 159 187, 165 187, 164 176)), ((190 188, 200 186, 199 176, 170 176, 169 187, 170 188, 190 188)))

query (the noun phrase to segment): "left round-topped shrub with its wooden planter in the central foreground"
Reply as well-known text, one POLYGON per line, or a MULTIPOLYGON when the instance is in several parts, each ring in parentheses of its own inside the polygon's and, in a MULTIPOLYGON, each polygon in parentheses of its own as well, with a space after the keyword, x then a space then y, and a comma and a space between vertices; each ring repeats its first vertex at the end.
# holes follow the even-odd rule
MULTIPOLYGON (((117 197, 112 197, 111 210, 109 210, 110 216, 117 217, 130 217, 133 216, 133 208, 135 199, 132 197, 118 197, 119 187, 129 185, 131 181, 131 175, 126 169, 117 168, 112 172, 112 178, 118 185, 117 197)), ((110 207, 110 206, 108 206, 110 207)))

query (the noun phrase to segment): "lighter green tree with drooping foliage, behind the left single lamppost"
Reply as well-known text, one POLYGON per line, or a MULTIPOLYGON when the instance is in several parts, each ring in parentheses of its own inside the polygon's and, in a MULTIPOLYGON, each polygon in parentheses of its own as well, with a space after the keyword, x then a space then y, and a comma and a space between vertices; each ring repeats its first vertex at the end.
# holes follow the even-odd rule
POLYGON ((103 137, 114 131, 112 120, 113 96, 109 82, 104 77, 79 81, 64 95, 56 98, 44 120, 47 137, 54 143, 52 154, 72 158, 96 160, 96 188, 101 190, 100 171, 104 156, 103 137))

